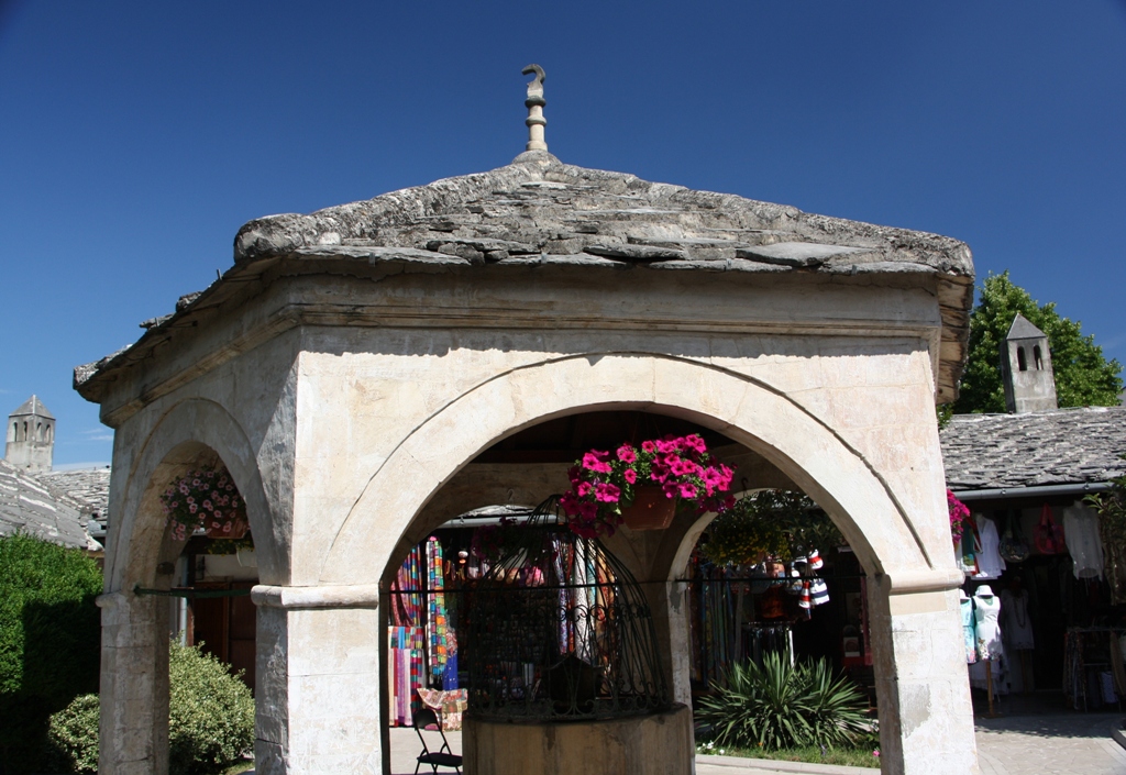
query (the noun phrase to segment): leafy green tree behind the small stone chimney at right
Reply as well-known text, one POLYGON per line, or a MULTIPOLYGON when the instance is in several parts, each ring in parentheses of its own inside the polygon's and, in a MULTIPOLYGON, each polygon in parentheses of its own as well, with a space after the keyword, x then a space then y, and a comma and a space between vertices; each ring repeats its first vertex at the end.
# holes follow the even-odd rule
POLYGON ((1094 337, 1082 335, 1079 321, 1061 317, 1055 302, 1037 304, 1009 279, 1008 270, 986 277, 978 292, 981 299, 969 315, 969 357, 955 413, 1006 411, 1000 347, 1018 312, 1048 337, 1061 407, 1118 406, 1121 364, 1107 360, 1094 337))

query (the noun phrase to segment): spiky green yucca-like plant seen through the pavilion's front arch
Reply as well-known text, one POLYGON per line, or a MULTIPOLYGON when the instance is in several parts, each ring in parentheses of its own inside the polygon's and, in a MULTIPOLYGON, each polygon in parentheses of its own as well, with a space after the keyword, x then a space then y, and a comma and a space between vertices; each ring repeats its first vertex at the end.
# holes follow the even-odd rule
POLYGON ((860 691, 834 677, 824 659, 790 666, 769 653, 762 667, 735 665, 727 686, 713 684, 700 701, 699 719, 712 725, 718 746, 780 750, 803 746, 851 747, 868 733, 860 691))

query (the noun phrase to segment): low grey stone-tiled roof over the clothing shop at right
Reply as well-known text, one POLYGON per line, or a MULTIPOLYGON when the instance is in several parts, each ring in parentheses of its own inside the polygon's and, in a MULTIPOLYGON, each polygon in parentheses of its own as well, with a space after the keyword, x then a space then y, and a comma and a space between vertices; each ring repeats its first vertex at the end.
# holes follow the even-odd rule
POLYGON ((1126 407, 955 415, 941 431, 954 490, 1106 482, 1126 474, 1126 407))

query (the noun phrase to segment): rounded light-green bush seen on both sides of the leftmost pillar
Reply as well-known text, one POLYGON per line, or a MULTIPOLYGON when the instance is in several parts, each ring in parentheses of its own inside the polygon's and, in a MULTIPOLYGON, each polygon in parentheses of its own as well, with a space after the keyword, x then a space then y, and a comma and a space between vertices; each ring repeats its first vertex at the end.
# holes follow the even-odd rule
MULTIPOLYGON (((254 742, 254 701, 227 666, 196 647, 172 643, 168 662, 169 775, 212 775, 254 742)), ((98 697, 86 695, 51 719, 55 768, 98 770, 98 697)))

